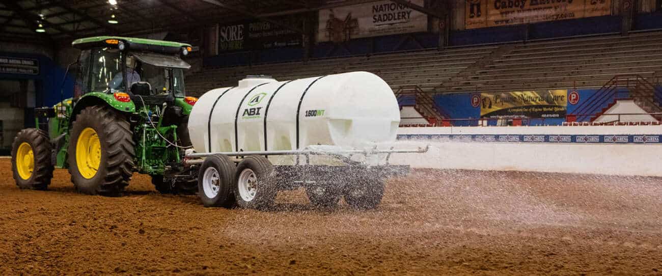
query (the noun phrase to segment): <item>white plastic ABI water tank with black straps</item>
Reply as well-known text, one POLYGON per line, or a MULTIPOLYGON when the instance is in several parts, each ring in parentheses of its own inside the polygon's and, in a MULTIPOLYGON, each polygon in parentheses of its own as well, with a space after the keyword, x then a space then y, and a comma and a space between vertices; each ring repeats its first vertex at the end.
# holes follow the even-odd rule
POLYGON ((364 71, 276 81, 247 77, 202 95, 189 116, 196 152, 365 146, 395 140, 391 87, 364 71))

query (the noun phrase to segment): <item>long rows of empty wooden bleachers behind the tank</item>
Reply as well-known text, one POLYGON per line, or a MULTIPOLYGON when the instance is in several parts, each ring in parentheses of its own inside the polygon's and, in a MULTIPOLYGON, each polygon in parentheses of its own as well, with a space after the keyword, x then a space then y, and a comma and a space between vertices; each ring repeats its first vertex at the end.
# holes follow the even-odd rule
POLYGON ((602 87, 614 75, 653 82, 662 73, 662 32, 567 38, 500 46, 468 46, 329 58, 304 62, 205 68, 187 77, 187 93, 236 85, 246 75, 287 80, 346 71, 370 71, 393 91, 420 87, 434 93, 602 87))

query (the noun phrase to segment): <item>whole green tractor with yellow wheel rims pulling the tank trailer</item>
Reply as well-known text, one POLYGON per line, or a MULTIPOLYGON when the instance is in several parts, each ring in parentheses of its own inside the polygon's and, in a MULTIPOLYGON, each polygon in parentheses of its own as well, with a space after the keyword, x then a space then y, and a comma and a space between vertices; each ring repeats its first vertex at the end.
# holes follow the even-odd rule
POLYGON ((81 193, 120 195, 134 172, 161 193, 195 193, 197 175, 181 159, 191 146, 187 122, 197 99, 184 93, 181 55, 191 45, 97 36, 81 50, 73 98, 37 108, 36 128, 17 134, 13 176, 23 189, 47 189, 67 168, 81 193))

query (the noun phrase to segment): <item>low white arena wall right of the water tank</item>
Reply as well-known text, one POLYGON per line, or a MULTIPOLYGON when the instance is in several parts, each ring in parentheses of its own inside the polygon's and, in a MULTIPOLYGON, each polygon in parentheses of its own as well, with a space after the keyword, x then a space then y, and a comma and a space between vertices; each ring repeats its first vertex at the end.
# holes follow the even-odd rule
POLYGON ((424 155, 397 154, 391 163, 435 169, 542 171, 662 177, 662 144, 461 142, 426 135, 444 134, 649 134, 659 137, 662 126, 490 126, 399 128, 399 134, 423 134, 402 139, 404 146, 430 145, 424 155))

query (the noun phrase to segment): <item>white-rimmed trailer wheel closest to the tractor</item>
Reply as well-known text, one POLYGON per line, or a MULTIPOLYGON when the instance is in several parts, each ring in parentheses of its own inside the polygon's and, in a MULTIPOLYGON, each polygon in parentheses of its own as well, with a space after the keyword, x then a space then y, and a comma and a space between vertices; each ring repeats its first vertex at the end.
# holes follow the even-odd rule
POLYGON ((198 196, 205 207, 231 207, 236 166, 228 156, 205 158, 198 174, 198 196))

